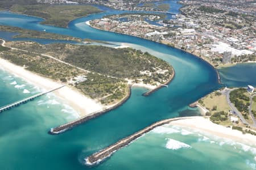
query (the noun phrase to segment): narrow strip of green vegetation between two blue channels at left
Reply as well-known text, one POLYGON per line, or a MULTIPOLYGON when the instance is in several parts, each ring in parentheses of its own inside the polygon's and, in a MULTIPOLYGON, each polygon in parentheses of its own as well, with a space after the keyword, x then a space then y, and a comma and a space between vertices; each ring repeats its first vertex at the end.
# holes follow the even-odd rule
POLYGON ((18 32, 19 35, 15 35, 14 38, 39 38, 39 39, 57 39, 57 40, 73 40, 73 41, 81 41, 79 38, 71 37, 71 36, 65 36, 65 35, 59 35, 56 33, 47 33, 44 31, 33 31, 28 29, 22 29, 18 27, 10 27, 5 25, 0 25, 1 31, 7 31, 7 32, 18 32))

